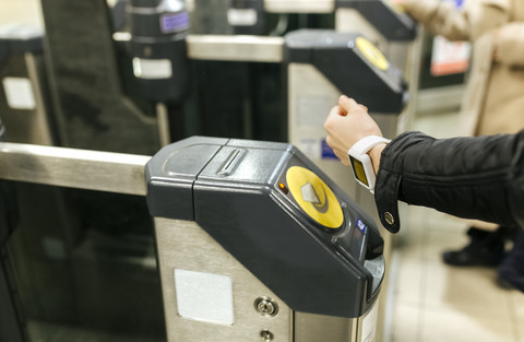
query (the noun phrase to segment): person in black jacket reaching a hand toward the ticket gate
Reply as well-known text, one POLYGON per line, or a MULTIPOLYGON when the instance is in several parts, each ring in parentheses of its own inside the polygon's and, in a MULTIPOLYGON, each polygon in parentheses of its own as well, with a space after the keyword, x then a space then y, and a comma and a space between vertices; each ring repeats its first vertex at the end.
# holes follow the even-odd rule
MULTIPOLYGON (((367 108, 341 96, 325 120, 326 142, 344 165, 362 139, 382 137, 367 108)), ((374 200, 382 225, 401 227, 397 201, 463 219, 514 227, 513 250, 498 269, 524 292, 524 130, 513 134, 434 139, 404 132, 367 151, 376 174, 374 200)))

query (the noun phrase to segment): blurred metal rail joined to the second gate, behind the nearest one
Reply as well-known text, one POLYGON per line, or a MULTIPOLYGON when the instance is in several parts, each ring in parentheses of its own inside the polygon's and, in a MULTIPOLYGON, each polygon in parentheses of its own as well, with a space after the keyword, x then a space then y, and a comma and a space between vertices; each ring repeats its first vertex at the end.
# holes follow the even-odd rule
POLYGON ((189 35, 188 57, 203 60, 283 61, 283 37, 189 35))

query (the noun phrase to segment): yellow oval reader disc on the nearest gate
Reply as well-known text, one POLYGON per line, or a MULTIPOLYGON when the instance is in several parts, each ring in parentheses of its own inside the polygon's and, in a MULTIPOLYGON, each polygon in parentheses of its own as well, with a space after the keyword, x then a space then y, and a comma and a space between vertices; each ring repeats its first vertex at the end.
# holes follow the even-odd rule
POLYGON ((331 188, 311 170, 293 166, 286 174, 287 186, 298 205, 323 226, 338 228, 344 223, 341 204, 331 188))

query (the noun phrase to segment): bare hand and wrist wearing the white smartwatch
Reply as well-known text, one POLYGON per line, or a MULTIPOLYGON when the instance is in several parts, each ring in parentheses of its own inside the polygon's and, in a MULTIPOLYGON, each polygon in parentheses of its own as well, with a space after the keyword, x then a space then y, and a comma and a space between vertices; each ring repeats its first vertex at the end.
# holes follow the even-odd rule
MULTIPOLYGON (((338 98, 338 106, 331 109, 324 122, 324 129, 327 131, 325 140, 327 145, 333 149, 342 164, 347 166, 350 165, 347 151, 357 141, 368 135, 382 137, 379 126, 369 116, 368 108, 345 95, 338 98)), ((385 144, 379 144, 368 152, 376 173, 380 164, 380 153, 384 146, 385 144)))

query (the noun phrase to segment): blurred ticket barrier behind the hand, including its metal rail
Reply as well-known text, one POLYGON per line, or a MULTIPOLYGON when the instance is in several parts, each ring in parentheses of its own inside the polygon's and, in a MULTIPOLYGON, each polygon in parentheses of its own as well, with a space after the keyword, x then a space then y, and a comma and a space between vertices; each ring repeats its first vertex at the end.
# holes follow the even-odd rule
POLYGON ((287 116, 274 129, 283 130, 289 143, 357 198, 357 184, 325 143, 329 111, 341 94, 348 94, 365 104, 393 138, 408 96, 402 72, 369 39, 332 30, 299 30, 284 38, 189 35, 187 39, 191 59, 284 62, 287 116))

